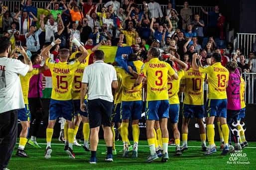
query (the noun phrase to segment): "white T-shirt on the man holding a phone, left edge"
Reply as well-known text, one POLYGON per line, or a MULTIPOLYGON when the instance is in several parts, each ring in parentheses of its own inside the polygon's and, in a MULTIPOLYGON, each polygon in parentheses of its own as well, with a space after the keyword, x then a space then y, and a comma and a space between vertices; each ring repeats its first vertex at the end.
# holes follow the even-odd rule
POLYGON ((25 107, 19 75, 25 76, 28 69, 19 60, 0 57, 0 113, 25 107))

